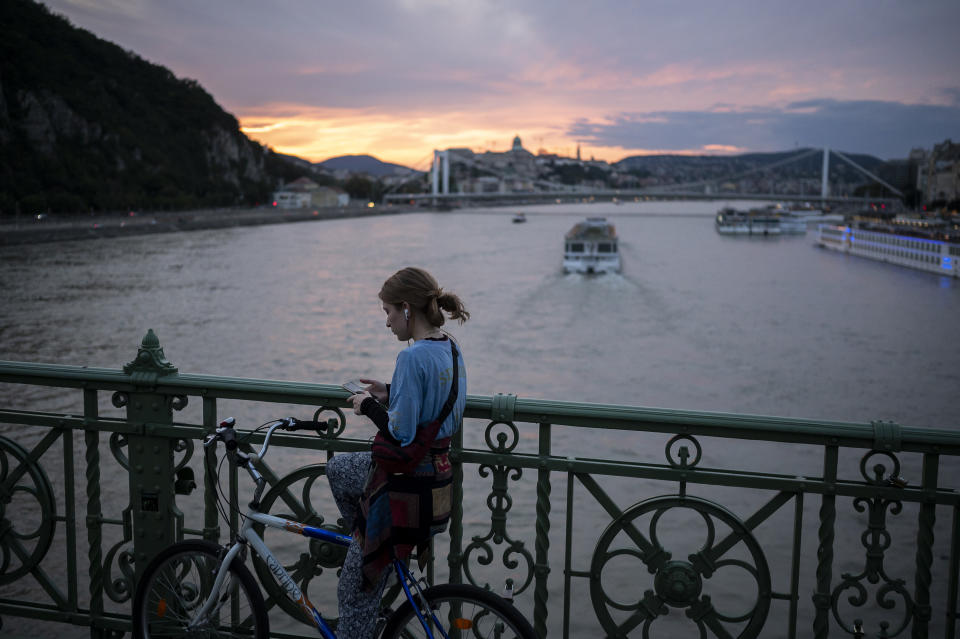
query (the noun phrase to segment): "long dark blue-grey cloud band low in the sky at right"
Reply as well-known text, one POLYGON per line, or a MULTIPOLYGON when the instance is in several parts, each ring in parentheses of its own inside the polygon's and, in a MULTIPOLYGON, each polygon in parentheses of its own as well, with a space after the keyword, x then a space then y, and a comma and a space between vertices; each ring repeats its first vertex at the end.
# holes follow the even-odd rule
POLYGON ((890 159, 906 157, 917 146, 960 138, 960 89, 943 94, 950 104, 815 99, 782 107, 631 112, 577 120, 567 133, 583 143, 623 149, 829 146, 890 159))

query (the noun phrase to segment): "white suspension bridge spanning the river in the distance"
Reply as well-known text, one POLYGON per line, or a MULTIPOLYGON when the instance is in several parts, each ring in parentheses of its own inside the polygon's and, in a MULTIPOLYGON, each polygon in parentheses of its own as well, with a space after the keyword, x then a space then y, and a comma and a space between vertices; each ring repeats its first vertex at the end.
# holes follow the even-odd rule
MULTIPOLYGON (((487 172, 497 174, 497 170, 488 166, 480 166, 476 161, 456 156, 458 162, 465 162, 471 166, 483 168, 487 172)), ((501 178, 510 178, 509 175, 500 175, 501 178)), ((882 204, 887 206, 899 206, 900 198, 903 196, 896 187, 883 181, 867 169, 863 168, 843 153, 831 151, 829 148, 811 149, 805 153, 800 153, 793 157, 779 160, 769 165, 750 169, 743 173, 725 176, 722 178, 713 178, 709 180, 700 180, 697 182, 687 182, 683 184, 670 184, 663 186, 650 187, 645 189, 578 189, 564 184, 556 184, 538 180, 535 182, 537 187, 542 190, 526 192, 489 192, 489 193, 451 193, 450 192, 450 151, 434 151, 433 165, 431 168, 432 189, 430 193, 387 193, 384 196, 385 203, 414 203, 414 204, 432 204, 437 206, 456 206, 467 203, 484 203, 490 205, 509 205, 509 204, 530 204, 530 203, 565 203, 565 202, 584 202, 584 201, 626 201, 626 200, 763 200, 763 201, 784 201, 784 202, 817 202, 821 206, 827 204, 853 204, 868 205, 882 204), (799 162, 814 154, 823 154, 823 168, 821 172, 820 193, 739 193, 731 192, 720 187, 725 182, 731 182, 743 179, 752 174, 763 173, 771 169, 799 162), (835 155, 843 162, 849 164, 854 169, 869 177, 875 183, 880 184, 891 195, 885 197, 850 197, 834 196, 830 194, 830 184, 828 176, 830 172, 830 157, 835 155)))

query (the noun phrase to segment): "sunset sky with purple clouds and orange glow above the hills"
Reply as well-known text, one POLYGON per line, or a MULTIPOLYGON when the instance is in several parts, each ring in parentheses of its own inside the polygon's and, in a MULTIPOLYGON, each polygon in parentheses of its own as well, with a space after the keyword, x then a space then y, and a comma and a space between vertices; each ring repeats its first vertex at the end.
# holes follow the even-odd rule
POLYGON ((958 0, 45 0, 190 78, 251 138, 425 169, 960 141, 958 0))

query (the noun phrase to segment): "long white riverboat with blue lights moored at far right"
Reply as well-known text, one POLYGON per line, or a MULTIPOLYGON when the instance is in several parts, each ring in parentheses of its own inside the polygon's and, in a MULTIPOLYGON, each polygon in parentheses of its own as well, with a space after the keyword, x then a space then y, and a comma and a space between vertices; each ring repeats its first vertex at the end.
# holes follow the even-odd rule
POLYGON ((897 218, 893 222, 820 224, 817 245, 960 278, 960 231, 948 229, 945 222, 897 218))

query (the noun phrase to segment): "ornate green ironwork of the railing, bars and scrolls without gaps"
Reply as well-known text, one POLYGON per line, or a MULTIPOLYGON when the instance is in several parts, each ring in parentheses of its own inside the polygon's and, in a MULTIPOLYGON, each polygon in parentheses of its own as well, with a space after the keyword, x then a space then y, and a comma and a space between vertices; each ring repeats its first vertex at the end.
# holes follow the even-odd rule
MULTIPOLYGON (((171 543, 173 538, 183 534, 217 537, 217 519, 210 517, 213 506, 208 509, 210 512, 205 513, 202 531, 183 528, 183 515, 177 508, 176 494, 182 494, 190 487, 188 474, 181 474, 180 471, 189 469, 188 461, 192 460, 196 440, 203 429, 197 425, 174 423, 171 412, 182 409, 187 401, 192 401, 191 397, 203 398, 203 426, 207 429, 216 423, 219 399, 244 397, 251 390, 263 401, 278 404, 303 405, 320 398, 321 408, 315 413, 314 419, 319 420, 325 411, 333 415, 327 420, 329 428, 320 433, 323 443, 318 446, 314 441, 309 446, 313 449, 322 448, 331 455, 337 451, 360 450, 365 445, 360 440, 341 439, 346 420, 341 410, 344 405, 343 393, 336 385, 251 380, 235 383, 229 378, 183 375, 166 361, 152 331, 148 331, 137 358, 124 367, 124 372, 125 375, 104 369, 0 362, 0 381, 4 383, 82 388, 84 394, 82 417, 0 407, 0 419, 4 423, 49 429, 40 444, 29 451, 21 448, 21 444, 0 438, 0 585, 16 581, 18 576, 24 580, 22 583, 30 580, 28 587, 34 587, 36 581, 53 602, 51 605, 46 601, 20 601, 5 595, 0 601, 0 614, 4 617, 23 614, 89 625, 95 633, 103 636, 116 634, 128 622, 122 614, 119 617, 112 612, 104 615, 105 593, 114 601, 128 601, 137 574, 135 569, 141 569, 142 562, 147 561, 151 553, 171 543), (103 391, 113 393, 111 401, 114 406, 127 409, 125 420, 100 419, 97 416, 97 392, 103 391), (66 512, 62 516, 56 514, 55 493, 41 468, 41 458, 53 442, 60 437, 69 437, 72 429, 84 430, 87 443, 84 471, 89 579, 82 569, 78 570, 72 559, 72 553, 77 549, 67 548, 67 584, 62 586, 50 577, 52 571, 46 570, 44 564, 52 561, 53 553, 48 549, 53 547, 50 538, 57 537, 53 533, 54 522, 65 521, 74 528, 78 523, 71 512, 71 500, 76 496, 72 494, 70 482, 66 482, 63 487, 64 503, 68 504, 65 506, 66 512), (124 469, 120 471, 121 474, 126 472, 130 476, 130 502, 123 510, 122 522, 109 520, 101 512, 101 434, 109 435, 110 450, 119 464, 109 464, 106 477, 114 481, 120 468, 124 469), (142 449, 138 446, 142 446, 142 449), (138 470, 138 467, 142 468, 138 470), (176 472, 172 472, 174 467, 176 472), (157 468, 160 468, 160 472, 157 468), (177 482, 179 490, 174 487, 177 482), (19 510, 23 509, 30 511, 28 516, 17 516, 19 510), (38 524, 38 521, 41 523, 38 524), (114 534, 110 541, 113 545, 104 553, 103 532, 110 527, 114 527, 114 533, 121 531, 123 539, 114 543, 116 537, 120 536, 114 534), (135 539, 140 544, 141 533, 146 533, 146 543, 136 548, 134 556, 131 540, 135 539), (90 593, 89 611, 83 610, 78 604, 83 600, 78 592, 86 590, 90 593)), ((948 601, 955 600, 956 593, 960 591, 956 567, 956 557, 960 553, 957 550, 960 548, 960 525, 957 525, 960 522, 960 499, 957 498, 955 486, 938 485, 938 460, 944 458, 950 459, 951 463, 957 462, 960 458, 960 432, 908 428, 880 421, 850 424, 686 413, 526 400, 502 395, 468 397, 466 417, 484 420, 487 428, 483 436, 485 445, 481 444, 478 449, 467 449, 462 439, 457 438, 452 448, 455 479, 448 556, 450 578, 458 581, 466 573, 471 582, 477 583, 475 575, 486 576, 493 571, 503 573, 501 566, 511 571, 518 569, 516 572, 523 574, 517 579, 520 584, 515 591, 517 603, 524 613, 530 614, 532 608, 532 621, 542 636, 548 632, 550 636, 556 634, 554 628, 548 629, 546 626, 547 593, 550 593, 550 609, 554 610, 555 593, 561 581, 564 583, 561 602, 564 608, 563 627, 565 636, 570 636, 569 607, 576 600, 570 583, 578 578, 589 584, 591 601, 601 620, 602 629, 594 630, 610 636, 643 636, 644 633, 653 634, 665 628, 669 631, 673 621, 684 621, 686 618, 691 620, 687 623, 696 625, 701 636, 729 634, 756 637, 764 626, 764 620, 772 616, 768 612, 771 598, 783 600, 784 606, 790 606, 791 616, 785 627, 773 627, 776 624, 768 622, 762 629, 765 634, 772 632, 785 636, 804 636, 812 625, 812 634, 818 638, 837 632, 853 637, 903 636, 908 627, 914 636, 919 637, 932 633, 934 628, 940 634, 944 623, 946 632, 943 634, 956 634, 956 611, 948 608, 943 614, 941 602, 944 597, 939 589, 945 585, 948 601), (494 421, 491 422, 491 419, 494 421), (520 433, 523 432, 523 437, 527 438, 531 425, 539 425, 540 449, 535 454, 518 452, 520 433), (634 433, 632 436, 638 438, 647 437, 645 433, 649 432, 668 432, 670 439, 665 448, 666 462, 553 455, 550 451, 551 425, 562 426, 564 432, 570 432, 567 429, 572 428, 597 427, 608 429, 605 431, 608 433, 634 433), (747 464, 744 464, 744 468, 703 468, 704 451, 700 441, 704 437, 725 438, 730 442, 793 442, 818 447, 823 451, 823 459, 806 476, 755 472, 746 468, 747 464), (852 468, 855 479, 838 479, 838 452, 850 449, 871 452, 860 459, 861 477, 856 477, 852 468), (900 461, 907 454, 914 456, 911 460, 923 455, 920 482, 913 477, 910 478, 911 482, 907 482, 901 477, 900 461), (489 515, 489 529, 484 521, 481 534, 472 537, 467 548, 462 548, 465 510, 461 501, 464 492, 469 495, 476 483, 468 482, 465 491, 463 477, 474 472, 474 469, 477 469, 481 482, 490 482, 489 493, 480 493, 481 499, 486 497, 486 510, 482 507, 474 509, 475 514, 479 510, 489 515), (567 517, 566 530, 562 527, 551 529, 550 526, 551 511, 556 510, 556 505, 551 503, 556 497, 551 495, 550 486, 551 480, 558 475, 565 476, 568 481, 566 508, 561 508, 567 517), (624 511, 601 487, 601 483, 610 477, 617 477, 615 481, 634 478, 648 483, 679 484, 679 494, 639 502, 624 511), (534 481, 536 526, 529 525, 529 512, 524 513, 526 520, 523 523, 524 530, 533 530, 530 534, 536 536, 535 544, 529 544, 530 549, 536 551, 535 560, 524 543, 510 535, 511 531, 515 532, 512 530, 515 526, 507 523, 508 519, 513 522, 519 516, 513 501, 518 494, 517 484, 522 483, 522 490, 526 491, 524 494, 529 496, 534 481), (573 496, 575 484, 589 490, 611 522, 596 540, 595 533, 590 531, 586 543, 593 545, 598 542, 598 546, 595 551, 588 553, 588 560, 572 556, 573 521, 575 515, 577 518, 582 516, 579 512, 581 502, 573 496), (693 485, 740 488, 753 491, 758 498, 764 494, 773 496, 754 514, 741 519, 719 503, 689 496, 688 486, 693 485), (805 499, 809 499, 809 495, 816 495, 821 500, 819 518, 813 523, 803 521, 806 512, 804 505, 810 503, 805 499), (840 579, 834 577, 834 546, 838 539, 845 539, 848 535, 838 535, 842 530, 838 528, 838 499, 843 503, 850 500, 867 522, 861 536, 865 554, 863 569, 855 573, 845 568, 849 572, 845 572, 840 579), (788 502, 793 503, 794 511, 793 550, 789 562, 794 574, 789 579, 789 592, 771 593, 769 569, 753 532, 788 502), (898 533, 897 539, 893 539, 891 531, 896 528, 888 524, 897 523, 894 518, 904 514, 906 504, 914 504, 919 509, 915 520, 916 538, 900 538, 898 533), (948 517, 946 525, 935 529, 938 523, 935 515, 939 509, 952 509, 953 518, 951 521, 948 517), (698 539, 697 547, 679 547, 681 540, 667 532, 668 523, 674 516, 692 519, 694 530, 705 531, 706 542, 699 546, 701 539, 698 539), (812 623, 808 619, 801 619, 800 624, 809 625, 798 626, 796 607, 805 596, 802 593, 807 592, 804 586, 809 585, 808 580, 798 587, 802 576, 799 566, 806 559, 800 554, 803 548, 801 540, 809 544, 809 535, 805 536, 805 533, 814 526, 814 543, 817 546, 813 594, 815 618, 812 623), (943 535, 944 530, 948 539, 938 541, 950 546, 949 566, 945 570, 941 563, 933 565, 937 555, 934 533, 943 535), (915 552, 913 571, 909 568, 905 570, 900 567, 902 563, 895 564, 893 561, 895 548, 902 548, 905 544, 909 545, 910 552, 898 553, 896 557, 901 561, 909 561, 913 557, 907 555, 915 552), (566 555, 563 561, 567 570, 559 575, 555 570, 556 559, 550 561, 551 558, 548 558, 548 549, 553 551, 554 548, 566 555), (498 553, 502 554, 502 561, 498 553), (582 561, 589 562, 588 569, 578 570, 574 566, 582 561), (637 579, 637 571, 627 575, 628 585, 631 580, 640 582, 639 589, 632 592, 616 584, 611 587, 609 579, 604 578, 616 577, 623 565, 629 562, 639 563, 647 571, 640 571, 641 579, 637 579), (481 570, 481 566, 490 564, 496 566, 481 570), (471 568, 475 570, 474 574, 471 574, 471 568), (551 568, 554 568, 553 572, 551 568), (900 579, 901 575, 910 578, 912 583, 900 579), (731 577, 755 584, 747 589, 750 598, 746 609, 728 610, 729 604, 724 604, 718 596, 731 577), (931 608, 931 589, 934 586, 938 589, 933 598, 937 602, 935 610, 931 608), (673 619, 668 621, 671 615, 673 619), (887 618, 883 618, 884 615, 887 618), (851 619, 854 616, 856 618, 851 619), (733 629, 734 626, 738 627, 733 629), (869 630, 865 630, 865 626, 869 626, 869 630)), ((64 439, 64 472, 74 477, 73 457, 66 441, 64 439)), ((289 443, 286 436, 284 443, 289 443)), ((906 459, 904 462, 906 467, 906 459)), ((325 510, 327 506, 314 508, 313 505, 326 503, 322 501, 325 497, 319 495, 320 486, 317 484, 323 474, 313 467, 300 469, 282 479, 269 473, 268 479, 273 488, 264 500, 266 507, 269 508, 272 502, 273 508, 282 511, 275 514, 289 513, 291 518, 298 520, 314 524, 323 521, 321 525, 336 526, 333 519, 323 518, 317 512, 325 510)), ((940 480, 945 477, 948 482, 954 479, 954 475, 941 475, 940 480)), ((268 473, 264 472, 264 476, 268 476, 268 473)), ((674 490, 671 488, 668 492, 674 490)), ((214 503, 215 491, 214 484, 206 483, 205 504, 214 503)), ((236 495, 232 497, 236 498, 236 495)), ((332 500, 329 508, 335 509, 332 500)), ((189 515, 193 517, 196 513, 189 515)), ((581 532, 581 529, 576 530, 577 542, 581 541, 581 532)), ((265 534, 271 532, 266 531, 265 534)), ((78 541, 70 534, 63 536, 68 545, 78 541)), ((689 542, 689 537, 685 535, 684 539, 689 542)), ((321 587, 326 589, 329 580, 332 586, 336 568, 342 561, 342 549, 307 541, 274 546, 278 550, 286 547, 290 553, 294 553, 289 561, 285 558, 282 560, 302 585, 312 585, 314 590, 321 587)), ((837 544, 837 547, 849 556, 844 546, 837 544)), ((15 583, 13 587, 19 588, 20 583, 15 583)), ((272 584, 272 581, 266 579, 265 584, 272 584)), ((271 597, 275 594, 268 592, 271 597)), ((739 601, 742 601, 742 594, 739 601)), ((577 620, 581 625, 574 634, 591 634, 591 630, 583 630, 583 624, 590 625, 593 620, 578 616, 581 617, 577 620)))

